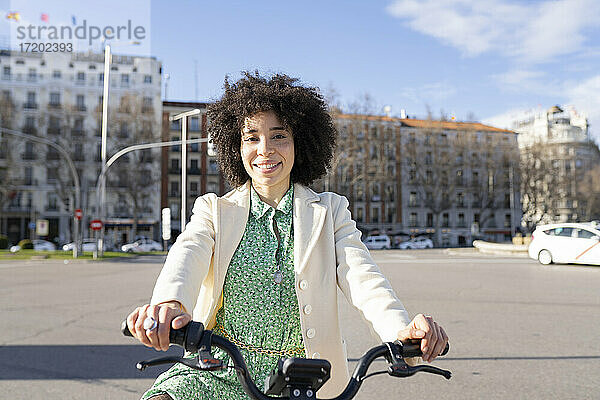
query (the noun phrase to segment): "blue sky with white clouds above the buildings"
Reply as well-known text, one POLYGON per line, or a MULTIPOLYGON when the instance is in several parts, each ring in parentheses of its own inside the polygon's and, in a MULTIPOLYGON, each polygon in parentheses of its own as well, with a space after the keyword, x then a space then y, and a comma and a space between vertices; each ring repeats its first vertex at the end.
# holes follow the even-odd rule
MULTIPOLYGON (((195 100, 196 91, 214 99, 226 74, 259 69, 333 87, 344 105, 369 93, 395 115, 424 117, 429 107, 506 126, 527 110, 571 105, 600 138, 597 0, 44 3, 0 0, 0 11, 149 26, 141 47, 114 51, 161 60, 169 100, 195 100)), ((15 23, 3 18, 0 35, 7 24, 15 23)))

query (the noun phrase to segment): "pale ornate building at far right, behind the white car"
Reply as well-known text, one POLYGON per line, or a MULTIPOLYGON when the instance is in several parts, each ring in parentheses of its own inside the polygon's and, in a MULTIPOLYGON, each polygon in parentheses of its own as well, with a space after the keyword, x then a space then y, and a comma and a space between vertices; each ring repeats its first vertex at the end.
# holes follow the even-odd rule
POLYGON ((600 151, 589 134, 584 114, 553 106, 515 121, 522 163, 523 222, 536 224, 579 222, 598 218, 597 181, 600 151))

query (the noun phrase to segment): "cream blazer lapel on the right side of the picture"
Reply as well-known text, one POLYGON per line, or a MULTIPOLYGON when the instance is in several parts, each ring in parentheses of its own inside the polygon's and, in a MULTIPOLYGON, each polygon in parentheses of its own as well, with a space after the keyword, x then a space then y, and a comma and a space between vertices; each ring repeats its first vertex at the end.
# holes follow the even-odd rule
POLYGON ((310 257, 325 222, 327 208, 319 196, 306 186, 294 185, 294 270, 301 273, 310 257))

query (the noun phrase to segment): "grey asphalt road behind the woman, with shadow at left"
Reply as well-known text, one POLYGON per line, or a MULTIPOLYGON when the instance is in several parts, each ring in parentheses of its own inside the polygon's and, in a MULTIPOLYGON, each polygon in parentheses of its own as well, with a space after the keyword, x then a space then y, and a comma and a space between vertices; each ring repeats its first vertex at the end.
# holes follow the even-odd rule
MULTIPOLYGON (((453 377, 375 376, 357 399, 600 398, 600 268, 465 250, 373 254, 409 313, 445 327, 451 352, 434 365, 453 377)), ((139 398, 160 370, 135 362, 158 353, 118 327, 148 300, 161 265, 0 261, 0 399, 139 398)), ((377 341, 341 304, 352 362, 377 341)))

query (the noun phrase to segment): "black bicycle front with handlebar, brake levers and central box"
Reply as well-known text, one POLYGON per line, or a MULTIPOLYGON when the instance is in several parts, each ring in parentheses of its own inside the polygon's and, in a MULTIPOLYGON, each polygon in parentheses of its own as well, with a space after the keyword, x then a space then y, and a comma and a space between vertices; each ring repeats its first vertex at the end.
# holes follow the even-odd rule
MULTIPOLYGON (((121 332, 125 336, 133 336, 127 328, 127 321, 123 321, 121 332)), ((244 391, 255 400, 318 400, 316 392, 327 382, 330 377, 331 364, 327 360, 307 358, 282 358, 277 367, 265 381, 264 393, 258 389, 250 377, 248 368, 238 347, 213 333, 204 329, 201 322, 191 321, 180 329, 171 329, 169 342, 183 347, 191 353, 198 353, 197 358, 160 357, 138 362, 136 367, 143 371, 147 367, 181 363, 199 371, 216 371, 233 368, 236 371, 244 391), (212 346, 220 348, 231 357, 233 366, 224 365, 221 360, 214 358, 210 349, 212 346), (274 397, 277 396, 277 397, 274 397)), ((449 345, 440 355, 448 353, 449 345)), ((350 400, 356 396, 362 382, 374 375, 389 374, 398 378, 406 378, 417 372, 428 372, 442 375, 450 379, 452 373, 431 365, 410 366, 404 358, 421 356, 420 340, 403 343, 400 341, 386 342, 368 350, 358 361, 356 368, 344 391, 337 397, 329 400, 350 400), (385 371, 367 374, 370 365, 379 357, 384 357, 389 366, 385 371)))

